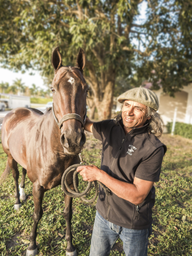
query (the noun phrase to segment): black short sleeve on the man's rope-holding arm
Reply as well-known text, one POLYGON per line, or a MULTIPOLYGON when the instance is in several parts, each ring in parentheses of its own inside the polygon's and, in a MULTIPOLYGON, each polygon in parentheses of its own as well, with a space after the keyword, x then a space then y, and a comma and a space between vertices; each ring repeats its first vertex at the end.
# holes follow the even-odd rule
POLYGON ((163 161, 164 149, 157 148, 147 159, 140 162, 135 172, 135 177, 141 180, 159 181, 161 165, 163 161))

